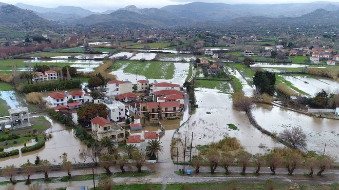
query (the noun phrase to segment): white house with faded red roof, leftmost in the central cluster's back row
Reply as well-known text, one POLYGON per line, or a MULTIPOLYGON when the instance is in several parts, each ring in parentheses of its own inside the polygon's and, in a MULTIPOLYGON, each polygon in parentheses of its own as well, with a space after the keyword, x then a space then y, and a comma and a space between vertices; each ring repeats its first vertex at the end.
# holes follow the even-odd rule
POLYGON ((107 82, 107 96, 117 96, 119 94, 124 94, 127 92, 133 91, 133 85, 130 81, 122 80, 111 80, 107 82))

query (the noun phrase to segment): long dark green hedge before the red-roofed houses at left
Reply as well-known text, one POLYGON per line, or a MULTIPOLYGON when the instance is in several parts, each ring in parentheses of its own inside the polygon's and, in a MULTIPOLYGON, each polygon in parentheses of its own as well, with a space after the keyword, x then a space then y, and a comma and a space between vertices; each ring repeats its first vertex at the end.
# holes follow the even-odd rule
POLYGON ((42 92, 42 91, 55 91, 65 89, 79 89, 81 88, 81 81, 79 80, 62 80, 53 82, 36 82, 31 85, 24 85, 22 88, 23 93, 42 92))

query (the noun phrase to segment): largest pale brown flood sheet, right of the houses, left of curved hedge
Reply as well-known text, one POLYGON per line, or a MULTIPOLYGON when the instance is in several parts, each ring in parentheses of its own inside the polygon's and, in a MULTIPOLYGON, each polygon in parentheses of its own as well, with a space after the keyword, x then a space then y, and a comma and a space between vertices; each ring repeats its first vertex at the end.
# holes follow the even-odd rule
MULTIPOLYGON (((190 125, 188 122, 185 123, 174 135, 175 138, 181 138, 184 143, 184 131, 187 131, 187 146, 191 144, 194 132, 192 147, 216 142, 225 136, 239 139, 244 150, 251 154, 268 153, 273 147, 284 147, 283 144, 275 142, 270 136, 254 128, 244 112, 234 110, 230 95, 211 92, 210 89, 196 90, 199 108, 192 113, 190 125), (229 123, 235 124, 238 130, 229 129, 227 125, 229 123), (260 145, 265 147, 258 147, 260 145)), ((181 151, 179 149, 179 153, 181 151)), ((193 153, 196 152, 196 149, 193 149, 193 153)), ((182 157, 179 157, 180 161, 182 157)))

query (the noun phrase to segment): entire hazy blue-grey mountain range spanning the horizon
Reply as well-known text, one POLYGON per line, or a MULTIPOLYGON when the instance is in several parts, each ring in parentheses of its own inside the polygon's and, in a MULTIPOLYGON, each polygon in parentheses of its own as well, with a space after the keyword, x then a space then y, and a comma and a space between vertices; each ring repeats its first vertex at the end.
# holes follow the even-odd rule
POLYGON ((163 8, 138 9, 127 6, 96 13, 80 7, 44 8, 18 3, 0 3, 0 25, 14 30, 51 29, 77 26, 98 29, 119 27, 168 28, 188 26, 234 27, 239 30, 256 24, 261 29, 284 26, 334 25, 338 28, 339 3, 314 2, 275 5, 229 5, 224 3, 189 3, 163 8), (316 15, 316 16, 315 16, 316 15), (271 26, 271 27, 272 27, 271 26), (269 26, 268 26, 269 27, 269 26))

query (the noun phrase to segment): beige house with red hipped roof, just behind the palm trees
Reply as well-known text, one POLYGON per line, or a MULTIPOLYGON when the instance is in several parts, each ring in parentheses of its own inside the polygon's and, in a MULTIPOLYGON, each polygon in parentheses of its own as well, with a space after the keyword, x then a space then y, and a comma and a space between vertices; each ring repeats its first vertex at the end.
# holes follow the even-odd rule
POLYGON ((125 140, 125 129, 122 129, 117 124, 109 122, 103 117, 95 117, 90 120, 92 137, 97 141, 101 141, 103 138, 107 137, 117 142, 122 142, 125 140))

